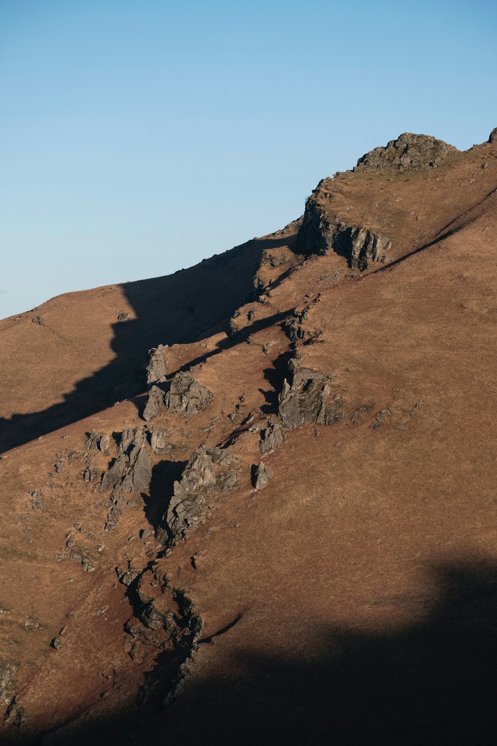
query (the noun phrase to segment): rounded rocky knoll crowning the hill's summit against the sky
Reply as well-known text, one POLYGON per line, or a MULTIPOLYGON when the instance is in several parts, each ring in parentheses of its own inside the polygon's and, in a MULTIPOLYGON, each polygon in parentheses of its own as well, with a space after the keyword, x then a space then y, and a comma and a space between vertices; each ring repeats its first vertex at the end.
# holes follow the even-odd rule
POLYGON ((436 168, 448 155, 458 153, 458 148, 429 135, 404 132, 387 145, 374 148, 357 162, 361 169, 383 169, 394 166, 398 169, 436 168))

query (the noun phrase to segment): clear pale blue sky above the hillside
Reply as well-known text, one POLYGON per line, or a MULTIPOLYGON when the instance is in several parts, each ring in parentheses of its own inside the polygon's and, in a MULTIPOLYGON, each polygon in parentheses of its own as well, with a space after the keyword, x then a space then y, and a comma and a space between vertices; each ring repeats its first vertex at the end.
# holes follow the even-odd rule
POLYGON ((0 0, 0 318, 303 213, 404 131, 497 126, 495 0, 0 0))

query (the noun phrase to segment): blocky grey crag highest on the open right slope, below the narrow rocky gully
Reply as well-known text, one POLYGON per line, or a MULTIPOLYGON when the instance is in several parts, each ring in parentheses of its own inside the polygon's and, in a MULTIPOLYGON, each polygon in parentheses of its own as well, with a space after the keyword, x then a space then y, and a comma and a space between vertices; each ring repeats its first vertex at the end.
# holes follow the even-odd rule
POLYGON ((341 395, 332 386, 333 375, 299 368, 297 360, 290 362, 290 380, 285 379, 279 394, 279 416, 284 427, 301 424, 333 424, 339 419, 341 395))

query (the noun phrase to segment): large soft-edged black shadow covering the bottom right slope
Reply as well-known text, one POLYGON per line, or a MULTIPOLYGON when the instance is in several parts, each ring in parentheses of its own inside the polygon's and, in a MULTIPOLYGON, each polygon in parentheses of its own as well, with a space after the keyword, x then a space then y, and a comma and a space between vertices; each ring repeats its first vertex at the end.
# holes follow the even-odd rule
MULTIPOLYGON (((218 675, 194 678, 168 709, 156 712, 145 704, 133 727, 130 712, 121 724, 115 718, 88 720, 60 733, 57 744, 68 739, 79 746, 108 737, 113 744, 135 746, 166 740, 218 746, 493 746, 497 565, 456 562, 437 568, 436 578, 434 601, 408 595, 364 600, 371 607, 414 604, 418 621, 412 624, 388 630, 378 622, 375 633, 316 623, 303 627, 308 645, 288 639, 279 658, 247 648, 227 659, 224 649, 218 675)), ((276 628, 279 620, 273 623, 276 628)), ((232 626, 223 630, 226 637, 204 642, 223 645, 232 626)), ((168 686, 163 682, 163 694, 168 686)), ((159 699, 155 693, 153 700, 159 699)))

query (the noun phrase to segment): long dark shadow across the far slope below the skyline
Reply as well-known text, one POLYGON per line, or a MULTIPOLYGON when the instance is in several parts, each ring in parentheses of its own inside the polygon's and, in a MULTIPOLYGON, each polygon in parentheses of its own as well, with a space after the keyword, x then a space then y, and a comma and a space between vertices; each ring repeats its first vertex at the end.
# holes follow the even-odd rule
POLYGON ((136 319, 113 325, 115 358, 78 381, 62 403, 0 419, 0 452, 144 391, 148 350, 159 344, 195 342, 226 330, 235 310, 254 297, 253 278, 262 251, 285 242, 288 239, 253 239, 174 275, 124 283, 121 287, 136 319))

